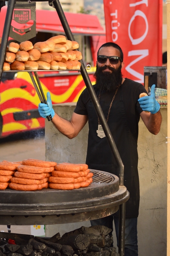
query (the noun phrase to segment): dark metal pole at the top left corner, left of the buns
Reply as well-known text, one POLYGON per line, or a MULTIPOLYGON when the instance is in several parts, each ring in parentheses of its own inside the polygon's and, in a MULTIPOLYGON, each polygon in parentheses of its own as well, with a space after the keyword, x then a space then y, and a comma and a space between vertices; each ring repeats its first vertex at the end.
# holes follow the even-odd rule
POLYGON ((8 38, 9 38, 9 32, 11 27, 11 21, 12 21, 12 14, 14 10, 15 0, 9 0, 7 11, 6 11, 6 18, 3 28, 3 35, 2 35, 2 41, 0 46, 0 81, 2 77, 2 70, 3 70, 3 63, 6 55, 6 47, 8 44, 8 38))

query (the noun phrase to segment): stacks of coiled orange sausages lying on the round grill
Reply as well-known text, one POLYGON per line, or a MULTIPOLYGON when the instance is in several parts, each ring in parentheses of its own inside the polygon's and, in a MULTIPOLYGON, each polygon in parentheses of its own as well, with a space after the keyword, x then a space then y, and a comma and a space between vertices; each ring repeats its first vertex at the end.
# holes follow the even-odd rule
POLYGON ((36 159, 0 162, 0 190, 79 189, 92 183, 86 164, 56 163, 36 159))

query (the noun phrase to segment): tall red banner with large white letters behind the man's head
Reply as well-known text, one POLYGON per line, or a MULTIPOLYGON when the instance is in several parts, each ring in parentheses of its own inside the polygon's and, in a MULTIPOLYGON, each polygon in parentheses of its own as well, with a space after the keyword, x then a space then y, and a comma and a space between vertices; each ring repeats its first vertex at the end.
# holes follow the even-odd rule
POLYGON ((144 66, 162 66, 162 0, 104 0, 107 42, 124 53, 124 77, 144 83, 144 66))

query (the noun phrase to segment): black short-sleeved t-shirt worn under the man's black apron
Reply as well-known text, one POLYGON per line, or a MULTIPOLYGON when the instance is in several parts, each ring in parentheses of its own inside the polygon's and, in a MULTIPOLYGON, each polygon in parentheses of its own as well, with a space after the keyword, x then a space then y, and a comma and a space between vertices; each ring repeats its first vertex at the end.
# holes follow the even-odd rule
MULTIPOLYGON (((140 113, 142 112, 142 109, 140 107, 140 104, 138 103, 139 99, 139 94, 140 93, 147 93, 145 90, 144 86, 138 82, 135 82, 130 79, 125 79, 124 83, 121 85, 122 87, 122 96, 124 100, 124 108, 126 111, 126 116, 127 116, 127 122, 130 128, 130 131, 132 132, 135 140, 137 141, 138 139, 138 122, 140 119, 140 113)), ((98 97, 99 95, 99 89, 96 88, 96 86, 93 86, 95 93, 98 97)), ((102 99, 100 99, 100 105, 102 110, 104 111, 104 105, 106 105, 106 102, 108 104, 111 103, 112 97, 115 92, 112 93, 107 93, 107 92, 102 92, 102 99)), ((113 101, 113 105, 116 105, 116 102, 119 101, 120 98, 120 90, 118 90, 115 99, 113 101)), ((90 109, 88 109, 88 103, 91 101, 91 98, 89 96, 88 90, 85 89, 77 102, 76 108, 74 110, 75 113, 80 114, 80 115, 87 115, 90 116, 90 109)), ((109 110, 109 107, 106 109, 109 110)), ((112 110, 112 108, 111 108, 112 110)), ((107 118, 108 111, 104 112, 105 117, 107 118)), ((96 114, 97 116, 97 114, 96 114)), ((93 118, 93 117, 92 117, 93 118)), ((108 125, 109 125, 109 119, 108 119, 108 125)))

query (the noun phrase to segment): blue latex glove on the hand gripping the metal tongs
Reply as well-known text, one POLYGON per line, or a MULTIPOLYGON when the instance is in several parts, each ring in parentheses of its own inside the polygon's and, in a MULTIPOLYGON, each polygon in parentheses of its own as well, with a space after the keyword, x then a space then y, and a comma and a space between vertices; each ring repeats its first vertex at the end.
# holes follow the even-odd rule
POLYGON ((40 116, 42 116, 43 118, 46 118, 46 117, 49 116, 49 115, 51 115, 52 118, 53 118, 54 115, 55 115, 55 112, 54 112, 54 109, 52 108, 51 95, 50 95, 50 93, 48 92, 48 93, 46 94, 46 96, 47 96, 46 102, 47 102, 48 105, 46 105, 46 104, 44 104, 44 103, 40 103, 40 104, 38 105, 38 111, 39 111, 39 113, 40 113, 40 116))

